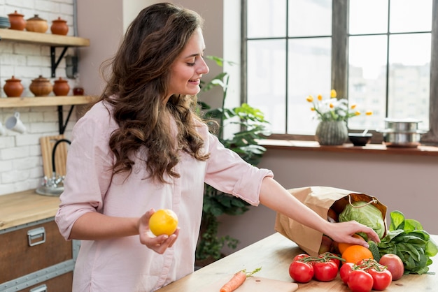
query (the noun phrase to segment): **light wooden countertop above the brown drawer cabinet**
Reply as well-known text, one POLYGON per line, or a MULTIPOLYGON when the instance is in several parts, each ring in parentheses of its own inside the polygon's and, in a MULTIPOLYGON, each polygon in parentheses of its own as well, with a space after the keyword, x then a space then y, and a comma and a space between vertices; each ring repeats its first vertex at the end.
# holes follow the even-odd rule
POLYGON ((54 217, 59 197, 42 196, 35 190, 0 196, 0 230, 54 217))

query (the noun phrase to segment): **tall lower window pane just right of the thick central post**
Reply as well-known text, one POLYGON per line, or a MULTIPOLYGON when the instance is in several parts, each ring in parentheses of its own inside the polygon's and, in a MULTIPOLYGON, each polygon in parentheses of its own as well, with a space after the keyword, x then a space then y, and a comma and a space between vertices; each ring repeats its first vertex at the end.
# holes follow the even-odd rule
POLYGON ((383 129, 386 117, 387 36, 351 36, 348 41, 348 102, 362 113, 350 129, 383 129), (372 110, 373 115, 363 115, 372 110))

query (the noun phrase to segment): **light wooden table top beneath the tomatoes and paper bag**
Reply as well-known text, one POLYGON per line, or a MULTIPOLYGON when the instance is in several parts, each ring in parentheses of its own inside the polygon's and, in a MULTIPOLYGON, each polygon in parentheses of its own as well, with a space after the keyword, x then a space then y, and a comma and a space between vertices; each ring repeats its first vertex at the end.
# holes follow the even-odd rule
MULTIPOLYGON (((438 242, 438 235, 432 235, 432 238, 438 242)), ((218 279, 227 275, 232 275, 234 272, 243 269, 252 271, 259 267, 262 267, 262 270, 257 272, 258 277, 293 282, 288 269, 292 258, 300 253, 302 253, 302 249, 299 249, 295 242, 285 238, 280 233, 275 233, 157 291, 199 292, 211 283, 217 282, 218 279)), ((432 261, 434 263, 429 266, 429 272, 436 273, 438 272, 438 256, 432 258, 432 261)), ((298 284, 297 291, 336 292, 351 290, 343 284, 338 274, 337 279, 332 282, 312 280, 306 284, 298 284)), ((402 279, 393 281, 385 291, 438 291, 438 275, 403 275, 402 279)))

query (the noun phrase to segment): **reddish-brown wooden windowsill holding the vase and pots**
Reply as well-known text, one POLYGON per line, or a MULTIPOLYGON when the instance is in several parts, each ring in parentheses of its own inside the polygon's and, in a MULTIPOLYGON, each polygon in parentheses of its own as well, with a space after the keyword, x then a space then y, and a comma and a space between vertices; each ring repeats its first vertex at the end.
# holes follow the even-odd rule
POLYGON ((438 147, 420 145, 418 147, 386 147, 383 144, 367 144, 364 147, 346 143, 340 146, 321 146, 316 141, 299 140, 260 140, 259 145, 267 149, 288 149, 299 151, 363 153, 363 154, 393 154, 413 156, 438 156, 438 147))

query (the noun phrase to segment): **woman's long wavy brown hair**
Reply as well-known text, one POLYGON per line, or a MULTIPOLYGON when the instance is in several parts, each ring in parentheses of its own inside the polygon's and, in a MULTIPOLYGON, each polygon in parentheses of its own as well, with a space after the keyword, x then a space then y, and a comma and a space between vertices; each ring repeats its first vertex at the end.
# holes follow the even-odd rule
POLYGON ((196 96, 173 95, 164 103, 169 70, 202 26, 202 17, 192 10, 171 3, 148 6, 129 25, 115 56, 103 64, 102 73, 110 66, 111 73, 101 100, 111 103, 119 126, 109 140, 116 158, 113 173, 132 173, 136 156, 146 162, 149 177, 164 183, 166 174, 179 177, 174 171, 179 151, 200 161, 209 158, 196 131, 196 96), (169 115, 178 127, 176 139, 169 115), (139 157, 141 147, 147 158, 139 157))

